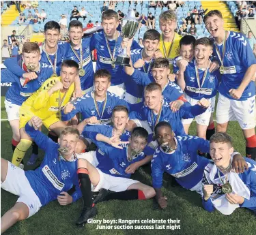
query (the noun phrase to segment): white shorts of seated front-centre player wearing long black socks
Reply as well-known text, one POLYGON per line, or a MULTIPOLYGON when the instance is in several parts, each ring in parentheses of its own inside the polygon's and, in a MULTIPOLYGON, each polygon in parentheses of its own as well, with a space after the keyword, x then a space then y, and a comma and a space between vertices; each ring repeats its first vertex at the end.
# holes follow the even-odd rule
POLYGON ((96 168, 100 174, 100 181, 96 187, 93 187, 92 191, 99 191, 100 189, 109 189, 111 191, 120 192, 128 189, 130 185, 139 183, 130 178, 115 177, 109 174, 103 173, 100 169, 96 168))

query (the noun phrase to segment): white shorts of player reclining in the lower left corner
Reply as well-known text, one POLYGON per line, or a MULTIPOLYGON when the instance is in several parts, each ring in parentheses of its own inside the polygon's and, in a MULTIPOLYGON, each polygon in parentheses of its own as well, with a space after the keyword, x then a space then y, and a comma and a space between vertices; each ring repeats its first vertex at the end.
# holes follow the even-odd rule
POLYGON ((40 210, 42 204, 31 188, 24 170, 14 166, 14 164, 8 161, 8 171, 3 183, 1 182, 1 188, 18 195, 17 202, 23 202, 29 208, 29 217, 34 215, 40 210))

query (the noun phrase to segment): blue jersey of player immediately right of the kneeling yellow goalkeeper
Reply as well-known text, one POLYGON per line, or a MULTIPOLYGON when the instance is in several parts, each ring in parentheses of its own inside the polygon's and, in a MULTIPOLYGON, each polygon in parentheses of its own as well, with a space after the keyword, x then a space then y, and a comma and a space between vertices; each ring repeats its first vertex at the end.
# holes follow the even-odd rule
POLYGON ((75 109, 73 109, 70 113, 64 114, 63 110, 61 110, 61 120, 68 121, 72 119, 77 112, 81 112, 83 120, 91 116, 97 116, 100 123, 108 124, 111 123, 113 108, 118 105, 126 106, 128 110, 130 110, 128 103, 113 93, 107 92, 105 102, 94 101, 94 91, 91 91, 77 99, 77 101, 74 103, 75 109), (98 106, 98 111, 96 109, 95 102, 97 102, 96 104, 98 106))

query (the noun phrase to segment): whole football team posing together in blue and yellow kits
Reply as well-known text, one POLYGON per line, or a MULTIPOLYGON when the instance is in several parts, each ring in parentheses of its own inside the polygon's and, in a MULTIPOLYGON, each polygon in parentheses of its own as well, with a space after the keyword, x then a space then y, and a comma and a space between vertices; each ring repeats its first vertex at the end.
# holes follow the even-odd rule
POLYGON ((203 18, 212 39, 175 33, 171 10, 158 20, 161 32, 147 30, 143 48, 122 38, 113 10, 102 13, 102 31, 86 37, 72 20, 70 42, 60 42, 58 23, 49 21, 42 48, 27 42, 20 57, 5 61, 1 82, 12 82, 5 109, 14 153, 12 163, 1 158, 1 188, 18 200, 1 217, 1 233, 53 200, 65 206, 83 198, 77 225, 106 200, 155 198, 167 208, 164 172, 197 191, 209 212, 256 212, 256 59, 246 37, 225 31, 218 10, 203 18), (115 63, 124 48, 130 67, 115 63), (197 136, 188 135, 193 119, 197 136), (229 121, 242 129, 246 157, 234 151, 229 121), (88 151, 93 144, 96 151, 88 151), (27 164, 35 164, 38 147, 44 159, 24 171, 31 146, 27 164), (150 161, 152 186, 130 178, 150 161))

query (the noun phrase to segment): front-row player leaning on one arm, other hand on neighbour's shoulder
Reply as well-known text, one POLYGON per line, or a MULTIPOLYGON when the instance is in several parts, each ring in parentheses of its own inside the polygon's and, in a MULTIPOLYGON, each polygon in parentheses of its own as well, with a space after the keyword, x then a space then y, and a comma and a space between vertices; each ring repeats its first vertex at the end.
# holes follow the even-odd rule
MULTIPOLYGON (((155 134, 159 146, 151 161, 152 185, 156 190, 156 201, 160 208, 167 207, 167 198, 162 195, 161 190, 164 172, 174 176, 177 183, 185 189, 201 194, 203 169, 210 160, 197 155, 197 151, 209 153, 209 141, 197 136, 175 136, 171 125, 167 122, 158 123, 155 127, 155 134)), ((238 164, 242 171, 242 166, 246 163, 244 157, 236 153, 232 166, 237 172, 238 164)))

